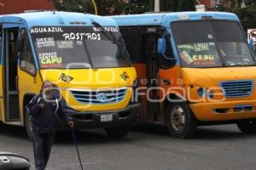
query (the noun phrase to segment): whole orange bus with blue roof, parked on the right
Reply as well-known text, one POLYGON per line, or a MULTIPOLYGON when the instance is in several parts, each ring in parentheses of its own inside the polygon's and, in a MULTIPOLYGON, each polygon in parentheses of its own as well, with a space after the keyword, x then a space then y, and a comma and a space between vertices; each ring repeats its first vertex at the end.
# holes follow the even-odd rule
POLYGON ((143 122, 191 137, 197 126, 237 123, 256 133, 256 60, 236 14, 112 16, 137 70, 143 122))

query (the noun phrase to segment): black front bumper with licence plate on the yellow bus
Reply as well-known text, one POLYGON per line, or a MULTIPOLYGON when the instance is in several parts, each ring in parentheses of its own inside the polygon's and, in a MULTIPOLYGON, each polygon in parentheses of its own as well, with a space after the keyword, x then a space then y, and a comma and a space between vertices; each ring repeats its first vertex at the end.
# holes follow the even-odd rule
MULTIPOLYGON (((73 117, 75 129, 126 127, 139 122, 141 104, 131 104, 125 109, 115 111, 73 111, 68 110, 73 117)), ((67 130, 67 123, 56 119, 56 130, 67 130)))

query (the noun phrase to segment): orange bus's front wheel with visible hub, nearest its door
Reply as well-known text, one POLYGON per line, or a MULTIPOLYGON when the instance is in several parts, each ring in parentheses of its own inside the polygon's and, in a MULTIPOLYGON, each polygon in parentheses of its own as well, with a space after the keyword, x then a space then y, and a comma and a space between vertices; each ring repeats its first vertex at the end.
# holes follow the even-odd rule
POLYGON ((186 102, 168 105, 166 111, 166 125, 175 138, 191 138, 196 130, 196 119, 186 102))

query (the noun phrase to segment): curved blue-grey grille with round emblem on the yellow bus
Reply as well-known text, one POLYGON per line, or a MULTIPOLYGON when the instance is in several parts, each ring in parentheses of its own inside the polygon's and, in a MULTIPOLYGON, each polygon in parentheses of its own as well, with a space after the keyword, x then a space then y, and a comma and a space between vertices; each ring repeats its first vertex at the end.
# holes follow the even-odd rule
POLYGON ((74 98, 85 104, 110 104, 125 99, 126 88, 101 90, 70 90, 74 98))

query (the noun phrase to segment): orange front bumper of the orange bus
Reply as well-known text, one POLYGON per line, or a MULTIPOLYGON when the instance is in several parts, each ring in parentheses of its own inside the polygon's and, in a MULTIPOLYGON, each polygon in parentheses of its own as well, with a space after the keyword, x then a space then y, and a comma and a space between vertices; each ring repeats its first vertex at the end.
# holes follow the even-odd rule
POLYGON ((190 104, 201 122, 236 121, 256 118, 256 100, 224 101, 190 104))

